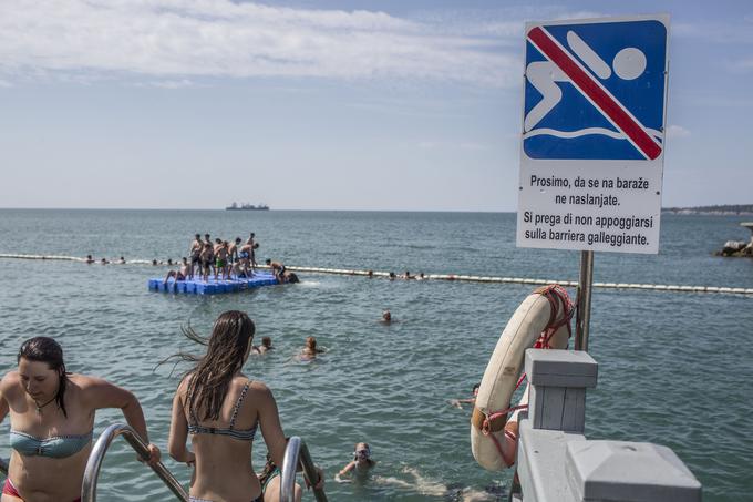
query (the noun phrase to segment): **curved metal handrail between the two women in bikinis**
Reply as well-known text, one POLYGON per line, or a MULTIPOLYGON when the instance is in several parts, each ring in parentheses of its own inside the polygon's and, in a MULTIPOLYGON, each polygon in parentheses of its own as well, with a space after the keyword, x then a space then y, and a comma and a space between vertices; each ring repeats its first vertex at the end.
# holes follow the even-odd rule
MULTIPOLYGON (((149 458, 149 450, 146 443, 135 430, 123 423, 113 423, 102 432, 92 452, 89 454, 84 481, 81 483, 81 502, 96 502, 96 480, 100 477, 100 468, 102 467, 104 454, 107 452, 107 448, 110 448, 110 443, 118 436, 123 436, 128 444, 138 453, 138 457, 144 460, 149 458)), ((178 500, 188 502, 188 494, 162 462, 149 467, 178 500)))

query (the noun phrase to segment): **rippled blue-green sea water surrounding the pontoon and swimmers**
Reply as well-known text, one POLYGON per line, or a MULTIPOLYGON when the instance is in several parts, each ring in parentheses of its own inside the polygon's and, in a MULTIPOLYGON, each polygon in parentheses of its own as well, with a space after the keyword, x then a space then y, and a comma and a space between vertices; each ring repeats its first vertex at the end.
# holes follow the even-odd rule
MULTIPOLYGON (((659 255, 597 253, 594 278, 753 288, 753 259, 713 256, 747 240, 733 216, 664 215, 659 255)), ((0 253, 166 260, 188 253, 195 233, 246 238, 258 259, 398 274, 467 274, 577 280, 579 253, 515 247, 514 214, 0 211, 0 253)), ((165 266, 0 259, 0 371, 16 367, 22 340, 55 337, 72 371, 133 390, 152 441, 184 483, 189 470, 166 454, 171 400, 180 371, 157 362, 200 354, 180 334, 209 334, 224 310, 243 309, 277 348, 244 371, 266 382, 287 434, 303 438, 327 473, 331 501, 505 500, 510 473, 481 469, 471 454, 470 411, 448 400, 478 382, 513 311, 532 286, 406 281, 300 274, 298 285, 199 297, 147 290, 165 266), (383 309, 396 320, 379 322, 383 309), (297 362, 306 337, 327 349, 297 362), (364 480, 333 477, 359 441, 376 468, 364 480)), ((568 289, 575 296, 573 288, 568 289)), ((672 448, 703 483, 705 501, 753 493, 753 297, 595 289, 589 349, 598 387, 587 398, 591 439, 672 448)), ((122 422, 96 414, 95 434, 122 422)), ((8 458, 9 421, 0 426, 8 458)), ((260 469, 264 441, 256 441, 260 469)), ((311 495, 308 495, 311 496, 311 495)), ((105 458, 100 501, 168 501, 172 494, 117 440, 105 458)))

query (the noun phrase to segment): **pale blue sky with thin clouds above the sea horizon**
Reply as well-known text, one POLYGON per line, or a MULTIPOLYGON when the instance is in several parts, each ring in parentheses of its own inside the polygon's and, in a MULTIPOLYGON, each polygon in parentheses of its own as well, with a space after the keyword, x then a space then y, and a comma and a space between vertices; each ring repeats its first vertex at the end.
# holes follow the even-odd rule
POLYGON ((515 211, 525 23, 640 13, 662 205, 753 203, 753 2, 0 0, 0 207, 515 211))

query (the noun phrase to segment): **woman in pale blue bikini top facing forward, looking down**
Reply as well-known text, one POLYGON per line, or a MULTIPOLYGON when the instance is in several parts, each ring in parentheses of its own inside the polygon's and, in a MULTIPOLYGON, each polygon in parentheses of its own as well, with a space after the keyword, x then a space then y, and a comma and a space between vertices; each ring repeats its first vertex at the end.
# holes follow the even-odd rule
MULTIPOLYGON (((94 412, 120 408, 128 424, 148 443, 138 400, 107 381, 69 373, 63 349, 48 337, 21 345, 18 370, 0 381, 0 422, 10 414, 10 469, 2 502, 79 501, 94 412)), ((149 463, 159 449, 148 445, 149 463)))

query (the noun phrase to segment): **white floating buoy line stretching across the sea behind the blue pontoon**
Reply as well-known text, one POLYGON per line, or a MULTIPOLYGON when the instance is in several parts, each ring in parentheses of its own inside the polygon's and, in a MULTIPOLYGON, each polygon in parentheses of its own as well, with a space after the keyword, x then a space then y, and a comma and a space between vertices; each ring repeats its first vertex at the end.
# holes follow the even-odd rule
MULTIPOLYGON (((12 258, 12 259, 51 259, 51 260, 68 260, 68 262, 81 262, 85 263, 85 258, 80 258, 78 256, 58 256, 58 255, 21 255, 21 254, 7 254, 0 253, 0 258, 12 258)), ((94 262, 92 265, 97 265, 99 262, 94 262)), ((110 263, 111 265, 120 265, 116 262, 110 263)), ((126 260, 127 265, 149 265, 154 266, 152 260, 148 259, 130 259, 126 260)), ((158 263, 157 266, 179 266, 179 262, 175 260, 173 264, 166 264, 164 262, 158 263)), ((259 265, 259 268, 269 268, 267 265, 259 265)), ((286 265, 286 269, 292 272, 308 272, 311 274, 336 274, 336 275, 347 275, 347 276, 365 276, 372 275, 373 277, 390 277, 389 272, 378 272, 378 270, 357 270, 347 268, 321 268, 321 267, 300 267, 295 265, 286 265)), ((400 276, 395 278, 404 280, 400 276)), ((411 276, 411 279, 416 279, 416 276, 411 276)), ((420 279, 419 279, 420 280, 420 279)), ((532 279, 525 277, 491 277, 491 276, 471 276, 471 275, 460 275, 460 274, 425 274, 424 280, 456 280, 461 283, 489 283, 489 284, 527 284, 535 286, 546 286, 549 284, 559 284, 560 286, 577 287, 578 283, 575 280, 551 280, 551 279, 532 279)), ((644 289, 653 291, 670 291, 670 293, 721 293, 729 295, 751 295, 753 296, 753 288, 731 288, 724 286, 680 286, 680 285, 666 285, 666 284, 637 284, 637 283, 594 283, 595 288, 604 289, 644 289)))

